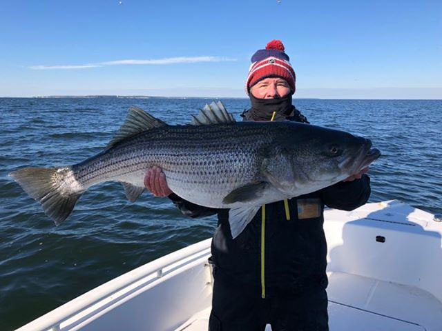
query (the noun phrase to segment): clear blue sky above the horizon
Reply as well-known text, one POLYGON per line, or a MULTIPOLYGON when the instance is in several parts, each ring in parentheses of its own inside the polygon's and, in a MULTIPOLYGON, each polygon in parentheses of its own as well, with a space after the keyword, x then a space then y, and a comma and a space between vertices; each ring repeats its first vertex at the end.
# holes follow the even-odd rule
POLYGON ((0 97, 246 97, 285 44, 295 97, 442 99, 442 1, 1 1, 0 97))

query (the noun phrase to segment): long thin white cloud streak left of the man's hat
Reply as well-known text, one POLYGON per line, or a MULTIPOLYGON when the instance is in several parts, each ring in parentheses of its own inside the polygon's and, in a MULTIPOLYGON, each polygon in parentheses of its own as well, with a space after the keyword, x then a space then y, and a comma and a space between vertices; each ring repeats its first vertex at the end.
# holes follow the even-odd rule
POLYGON ((155 65, 155 64, 175 64, 175 63, 198 63, 198 62, 222 62, 222 61, 236 61, 229 57, 169 57, 166 59, 147 59, 147 60, 117 60, 105 61, 98 63, 89 63, 79 66, 30 66, 33 70, 47 70, 47 69, 85 69, 97 68, 102 66, 122 66, 122 65, 155 65))

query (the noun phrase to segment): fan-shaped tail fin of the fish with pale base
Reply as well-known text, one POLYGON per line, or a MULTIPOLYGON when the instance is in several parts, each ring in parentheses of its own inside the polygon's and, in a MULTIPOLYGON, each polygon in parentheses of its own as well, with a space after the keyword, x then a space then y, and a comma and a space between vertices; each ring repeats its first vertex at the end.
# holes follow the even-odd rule
POLYGON ((30 197, 39 201, 56 225, 68 218, 83 191, 74 190, 77 183, 70 167, 23 168, 9 174, 30 197))

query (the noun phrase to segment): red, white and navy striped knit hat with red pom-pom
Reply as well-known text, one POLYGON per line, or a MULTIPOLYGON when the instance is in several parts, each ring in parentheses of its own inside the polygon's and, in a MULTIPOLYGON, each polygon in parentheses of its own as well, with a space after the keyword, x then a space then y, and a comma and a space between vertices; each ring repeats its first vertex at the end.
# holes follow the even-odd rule
POLYGON ((284 50, 284 45, 280 40, 272 40, 267 43, 265 50, 258 50, 253 54, 246 82, 247 94, 258 81, 269 77, 285 79, 289 83, 291 94, 295 92, 295 71, 291 67, 290 58, 284 50))

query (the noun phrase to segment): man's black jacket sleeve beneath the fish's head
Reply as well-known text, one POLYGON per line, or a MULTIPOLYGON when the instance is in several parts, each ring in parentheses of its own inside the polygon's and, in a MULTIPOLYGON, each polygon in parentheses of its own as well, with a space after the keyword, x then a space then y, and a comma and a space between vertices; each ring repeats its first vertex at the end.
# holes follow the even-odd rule
POLYGON ((367 171, 363 170, 345 181, 323 188, 320 192, 324 203, 339 210, 354 210, 367 203, 372 192, 370 178, 365 174, 367 171))

